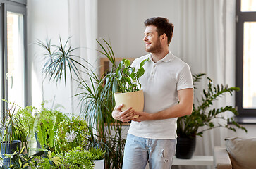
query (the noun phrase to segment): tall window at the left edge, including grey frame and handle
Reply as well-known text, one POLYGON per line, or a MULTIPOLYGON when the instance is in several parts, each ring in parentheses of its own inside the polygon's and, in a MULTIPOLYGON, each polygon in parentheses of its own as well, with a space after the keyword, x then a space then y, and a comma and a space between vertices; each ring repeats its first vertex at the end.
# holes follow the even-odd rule
MULTIPOLYGON (((1 99, 23 107, 27 104, 25 1, 0 0, 0 3, 1 99)), ((1 112, 6 106, 1 101, 1 112)))

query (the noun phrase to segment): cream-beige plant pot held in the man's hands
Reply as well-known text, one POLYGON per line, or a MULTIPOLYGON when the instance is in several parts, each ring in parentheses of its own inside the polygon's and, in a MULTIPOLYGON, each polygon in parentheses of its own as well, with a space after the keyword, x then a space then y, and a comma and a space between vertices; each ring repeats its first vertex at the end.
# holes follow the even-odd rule
MULTIPOLYGON (((127 108, 132 107, 135 111, 143 111, 144 108, 144 95, 143 90, 135 92, 114 93, 116 106, 123 104, 121 111, 125 111, 127 108)), ((138 115, 134 115, 133 118, 138 118, 138 115)))

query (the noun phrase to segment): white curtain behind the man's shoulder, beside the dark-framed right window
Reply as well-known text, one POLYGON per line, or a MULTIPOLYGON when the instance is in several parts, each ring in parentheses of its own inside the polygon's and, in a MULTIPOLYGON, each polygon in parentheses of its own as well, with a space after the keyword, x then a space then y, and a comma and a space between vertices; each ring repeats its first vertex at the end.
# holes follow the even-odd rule
MULTIPOLYGON (((176 26, 178 56, 190 65, 192 73, 206 73, 214 84, 230 87, 235 86, 235 4, 235 0, 180 0, 176 26)), ((200 90, 206 87, 206 82, 200 84, 200 90)), ((200 94, 195 97, 200 99, 200 94)), ((233 106, 234 98, 223 96, 214 106, 227 104, 233 106)), ((214 146, 224 146, 226 134, 226 129, 218 128, 205 132, 202 138, 197 137, 194 155, 212 156, 214 146)))

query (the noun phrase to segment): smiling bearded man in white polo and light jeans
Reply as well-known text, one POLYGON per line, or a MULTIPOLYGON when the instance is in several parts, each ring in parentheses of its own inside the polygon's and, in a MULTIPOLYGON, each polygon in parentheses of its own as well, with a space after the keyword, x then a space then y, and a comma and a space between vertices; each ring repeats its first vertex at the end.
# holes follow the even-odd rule
POLYGON ((116 120, 132 120, 128 130, 123 158, 123 169, 171 168, 176 150, 176 120, 190 115, 193 109, 193 80, 190 68, 169 51, 173 24, 166 18, 145 20, 143 41, 145 56, 135 59, 132 66, 139 68, 145 58, 145 73, 140 77, 145 96, 143 112, 133 108, 121 111, 116 105, 112 116, 116 120), (132 119, 133 115, 139 115, 132 119))

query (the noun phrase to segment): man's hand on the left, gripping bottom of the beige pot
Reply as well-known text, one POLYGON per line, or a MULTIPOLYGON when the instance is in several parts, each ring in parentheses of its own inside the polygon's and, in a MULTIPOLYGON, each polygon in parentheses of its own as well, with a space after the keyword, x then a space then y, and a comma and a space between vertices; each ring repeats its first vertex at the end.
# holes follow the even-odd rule
POLYGON ((128 108, 126 111, 121 111, 121 108, 123 107, 123 104, 118 105, 114 108, 112 111, 112 117, 116 120, 120 120, 122 122, 128 122, 132 120, 133 115, 134 115, 134 110, 133 108, 128 108))

